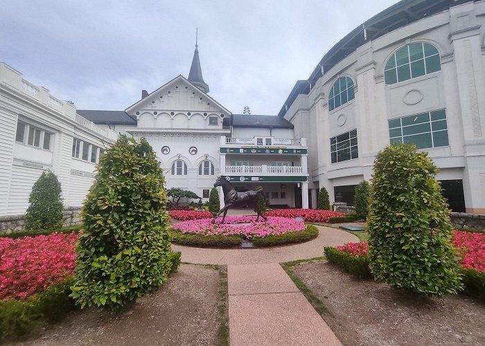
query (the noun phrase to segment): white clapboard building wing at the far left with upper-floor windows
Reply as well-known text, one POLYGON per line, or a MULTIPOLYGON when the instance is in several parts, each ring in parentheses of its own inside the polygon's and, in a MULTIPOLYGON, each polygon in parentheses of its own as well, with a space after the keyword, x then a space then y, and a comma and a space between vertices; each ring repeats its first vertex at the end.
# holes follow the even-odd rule
POLYGON ((116 136, 0 63, 0 216, 24 214, 43 170, 58 176, 64 206, 80 206, 100 152, 116 136))

